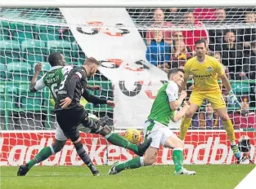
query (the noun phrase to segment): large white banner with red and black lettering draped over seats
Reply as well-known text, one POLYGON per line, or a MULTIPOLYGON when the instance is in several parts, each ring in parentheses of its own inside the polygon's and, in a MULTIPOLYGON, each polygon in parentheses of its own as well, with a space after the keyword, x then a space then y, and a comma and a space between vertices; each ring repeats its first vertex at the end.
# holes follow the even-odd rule
MULTIPOLYGON (((86 55, 115 86, 115 128, 142 128, 167 74, 146 59, 146 46, 125 8, 61 8, 86 55), (78 27, 79 26, 79 27, 78 27)), ((175 127, 175 126, 174 126, 175 127)))

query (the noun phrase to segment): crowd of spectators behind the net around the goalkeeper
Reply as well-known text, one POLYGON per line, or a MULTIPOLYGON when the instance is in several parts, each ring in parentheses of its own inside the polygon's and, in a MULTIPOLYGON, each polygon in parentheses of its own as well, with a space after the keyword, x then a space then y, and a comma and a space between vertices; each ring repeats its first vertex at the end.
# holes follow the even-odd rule
MULTIPOLYGON (((146 59, 150 64, 165 72, 170 68, 183 68, 186 60, 195 55, 195 42, 198 39, 204 39, 208 44, 209 55, 218 59, 229 79, 254 81, 248 83, 248 93, 240 94, 241 108, 239 111, 231 111, 230 117, 235 129, 256 128, 254 108, 256 15, 254 9, 169 8, 163 10, 158 8, 154 11, 152 9, 129 9, 128 11, 136 24, 148 26, 146 32, 141 30, 140 33, 141 37, 145 38, 146 59), (244 24, 246 27, 236 28, 231 24, 244 24), (206 29, 205 25, 212 25, 212 27, 206 29), (175 31, 174 27, 181 29, 175 31), (251 109, 249 107, 254 108, 254 111, 249 111, 251 109)), ((193 86, 188 84, 187 87, 191 89, 193 86)), ((227 91, 222 88, 222 93, 225 96, 227 91)), ((222 129, 222 121, 211 108, 211 104, 205 101, 204 105, 205 108, 195 114, 192 129, 222 129)))

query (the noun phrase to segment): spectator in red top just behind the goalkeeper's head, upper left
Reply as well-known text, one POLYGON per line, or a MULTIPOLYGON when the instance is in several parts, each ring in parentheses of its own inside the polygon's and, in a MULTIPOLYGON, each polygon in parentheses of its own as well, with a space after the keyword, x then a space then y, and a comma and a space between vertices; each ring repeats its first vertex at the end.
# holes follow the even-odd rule
POLYGON ((199 20, 195 20, 193 12, 186 12, 183 20, 183 27, 191 29, 182 32, 184 42, 186 46, 190 47, 191 51, 194 51, 195 42, 199 39, 205 39, 209 42, 208 32, 204 27, 204 24, 199 20))

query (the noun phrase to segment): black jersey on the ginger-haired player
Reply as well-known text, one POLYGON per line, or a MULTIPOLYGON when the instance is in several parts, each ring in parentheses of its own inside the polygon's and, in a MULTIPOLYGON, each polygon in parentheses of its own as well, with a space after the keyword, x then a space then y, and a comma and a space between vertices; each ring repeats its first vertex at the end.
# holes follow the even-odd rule
POLYGON ((80 99, 84 90, 86 90, 87 82, 87 73, 83 67, 75 67, 70 73, 66 73, 58 90, 55 110, 61 110, 61 99, 65 99, 66 97, 72 99, 72 102, 66 109, 83 108, 80 104, 80 99), (73 91, 69 93, 70 90, 73 91))

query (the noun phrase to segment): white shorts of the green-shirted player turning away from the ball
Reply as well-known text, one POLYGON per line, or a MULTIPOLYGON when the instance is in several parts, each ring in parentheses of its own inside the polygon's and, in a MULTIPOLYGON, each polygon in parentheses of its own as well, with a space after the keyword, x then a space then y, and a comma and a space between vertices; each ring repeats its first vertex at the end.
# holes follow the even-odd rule
POLYGON ((150 147, 155 147, 158 149, 160 145, 164 147, 164 143, 167 138, 175 135, 173 134, 173 131, 169 130, 166 125, 163 125, 157 121, 146 121, 143 128, 143 133, 145 134, 145 138, 152 138, 150 147))

